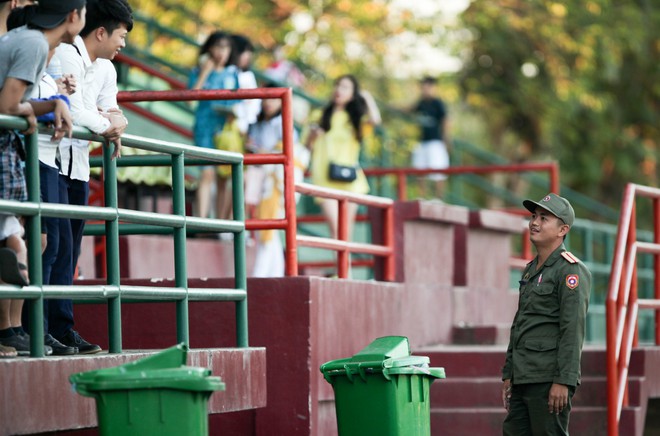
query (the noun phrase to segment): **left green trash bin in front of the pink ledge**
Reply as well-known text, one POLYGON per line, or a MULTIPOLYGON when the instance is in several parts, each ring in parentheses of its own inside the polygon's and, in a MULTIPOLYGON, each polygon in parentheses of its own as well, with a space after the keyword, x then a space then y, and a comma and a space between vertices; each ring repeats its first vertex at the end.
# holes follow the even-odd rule
POLYGON ((101 435, 208 435, 208 398, 225 389, 211 370, 185 366, 187 347, 113 368, 72 374, 81 395, 96 399, 101 435))

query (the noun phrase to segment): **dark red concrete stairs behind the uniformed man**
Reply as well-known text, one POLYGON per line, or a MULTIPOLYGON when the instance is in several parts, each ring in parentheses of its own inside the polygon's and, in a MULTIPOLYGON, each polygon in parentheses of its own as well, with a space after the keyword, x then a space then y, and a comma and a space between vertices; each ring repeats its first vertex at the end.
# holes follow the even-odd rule
MULTIPOLYGON (((506 347, 501 345, 448 345, 414 350, 429 356, 432 367, 444 367, 447 378, 431 385, 433 435, 501 435, 506 411, 500 397, 500 370, 506 347)), ((657 347, 633 352, 629 379, 629 405, 624 407, 621 435, 645 433, 649 398, 660 395, 651 373, 657 347)), ((657 368, 657 366, 656 366, 657 368)), ((582 358, 582 384, 573 398, 570 431, 578 435, 607 434, 607 379, 604 347, 586 347, 582 358)), ((651 413, 651 412, 649 412, 651 413)), ((647 429, 648 430, 648 429, 647 429)))

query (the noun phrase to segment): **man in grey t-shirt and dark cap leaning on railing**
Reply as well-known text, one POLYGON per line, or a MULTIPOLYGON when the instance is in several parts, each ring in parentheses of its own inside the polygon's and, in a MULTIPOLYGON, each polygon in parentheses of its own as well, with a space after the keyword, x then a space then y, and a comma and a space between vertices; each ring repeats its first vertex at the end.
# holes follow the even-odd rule
MULTIPOLYGON (((3 4, 2 8, 6 6, 3 4)), ((11 14, 14 23, 23 21, 28 26, 14 29, 0 39, 0 113, 25 117, 28 122, 25 134, 34 133, 36 117, 48 112, 54 113, 54 141, 72 133, 66 103, 27 101, 27 98, 41 79, 49 50, 61 42, 73 41, 80 31, 84 9, 84 0, 42 0, 38 6, 26 6, 11 14)), ((24 159, 25 148, 18 132, 0 128, 1 199, 27 200, 24 159)), ((0 254, 0 278, 5 283, 27 284, 22 234, 23 227, 15 216, 0 215, 0 244, 7 245, 0 254)), ((0 349, 0 357, 29 351, 29 339, 21 325, 22 306, 22 300, 0 300, 0 344, 8 347, 0 349)))

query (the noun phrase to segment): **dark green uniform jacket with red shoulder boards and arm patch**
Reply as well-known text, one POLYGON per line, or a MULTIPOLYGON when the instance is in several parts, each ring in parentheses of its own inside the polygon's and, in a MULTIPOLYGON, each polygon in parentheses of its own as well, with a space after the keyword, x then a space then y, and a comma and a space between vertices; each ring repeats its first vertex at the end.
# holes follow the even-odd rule
POLYGON ((591 273, 562 244, 536 270, 527 264, 502 369, 513 384, 580 384, 591 273))

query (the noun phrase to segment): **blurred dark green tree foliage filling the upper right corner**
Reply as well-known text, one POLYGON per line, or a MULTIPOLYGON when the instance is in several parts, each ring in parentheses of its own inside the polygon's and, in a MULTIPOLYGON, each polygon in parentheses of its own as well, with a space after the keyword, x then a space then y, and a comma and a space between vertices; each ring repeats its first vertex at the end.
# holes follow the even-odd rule
POLYGON ((626 182, 657 185, 660 4, 474 0, 460 25, 463 96, 496 150, 552 156, 564 183, 609 204, 626 182))

